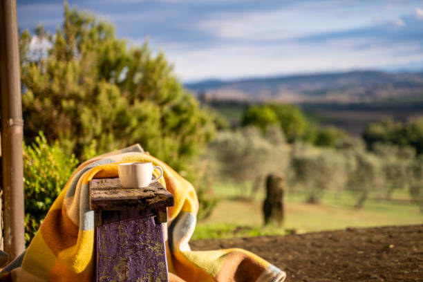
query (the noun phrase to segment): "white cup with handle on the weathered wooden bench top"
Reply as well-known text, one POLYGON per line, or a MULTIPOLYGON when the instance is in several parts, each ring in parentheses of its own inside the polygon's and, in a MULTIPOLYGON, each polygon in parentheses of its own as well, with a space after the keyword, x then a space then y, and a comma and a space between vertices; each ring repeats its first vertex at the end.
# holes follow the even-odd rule
POLYGON ((163 169, 153 167, 151 162, 125 162, 118 164, 118 173, 124 188, 140 188, 157 182, 163 175, 163 169), (160 176, 152 180, 154 169, 160 169, 160 176))

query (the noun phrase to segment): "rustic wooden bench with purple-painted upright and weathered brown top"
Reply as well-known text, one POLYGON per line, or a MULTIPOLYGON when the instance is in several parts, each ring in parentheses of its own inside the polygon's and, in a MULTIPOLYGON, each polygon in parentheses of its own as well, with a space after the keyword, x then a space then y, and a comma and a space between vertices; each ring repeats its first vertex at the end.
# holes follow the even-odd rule
POLYGON ((119 178, 89 183, 95 213, 96 281, 168 281, 163 225, 173 196, 159 183, 125 189, 119 178))

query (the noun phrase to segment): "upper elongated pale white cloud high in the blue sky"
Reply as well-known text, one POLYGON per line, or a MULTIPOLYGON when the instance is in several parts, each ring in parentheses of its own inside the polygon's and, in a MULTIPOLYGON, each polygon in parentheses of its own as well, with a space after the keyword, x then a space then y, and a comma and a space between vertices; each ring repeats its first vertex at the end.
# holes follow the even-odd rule
POLYGON ((316 12, 313 8, 314 6, 304 6, 301 9, 294 7, 254 12, 219 12, 198 22, 196 28, 220 39, 274 41, 316 32, 360 28, 372 22, 372 19, 366 17, 355 17, 354 13, 343 15, 344 18, 338 21, 336 9, 316 12), (337 24, 334 24, 335 21, 337 24))

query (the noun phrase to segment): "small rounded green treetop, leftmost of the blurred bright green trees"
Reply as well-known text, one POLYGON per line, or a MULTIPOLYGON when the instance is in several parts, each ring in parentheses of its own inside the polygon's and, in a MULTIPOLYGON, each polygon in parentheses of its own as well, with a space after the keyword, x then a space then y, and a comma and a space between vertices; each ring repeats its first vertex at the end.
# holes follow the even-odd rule
POLYGON ((278 123, 276 114, 270 106, 250 106, 243 115, 241 124, 243 126, 254 125, 265 133, 267 126, 278 123))

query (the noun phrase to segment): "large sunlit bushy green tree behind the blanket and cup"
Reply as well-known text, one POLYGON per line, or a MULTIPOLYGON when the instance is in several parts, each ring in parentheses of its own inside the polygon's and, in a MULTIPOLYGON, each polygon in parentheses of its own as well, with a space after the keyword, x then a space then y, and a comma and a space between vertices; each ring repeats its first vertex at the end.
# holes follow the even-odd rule
POLYGON ((67 3, 54 36, 37 30, 37 39, 50 45, 45 56, 30 52, 32 38, 21 33, 26 142, 41 129, 78 158, 93 140, 98 153, 139 142, 180 171, 212 138, 212 115, 147 42, 128 47, 111 23, 67 3))

